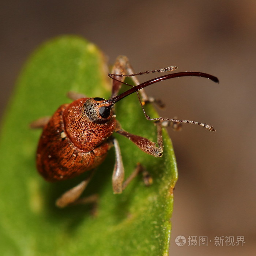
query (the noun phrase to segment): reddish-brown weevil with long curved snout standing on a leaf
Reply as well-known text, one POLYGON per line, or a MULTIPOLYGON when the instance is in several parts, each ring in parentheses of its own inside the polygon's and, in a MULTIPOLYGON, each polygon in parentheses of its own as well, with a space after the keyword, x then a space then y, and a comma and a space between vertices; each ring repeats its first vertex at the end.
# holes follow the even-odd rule
MULTIPOLYGON (((140 150, 154 157, 161 157, 163 154, 162 123, 163 121, 174 123, 191 123, 201 125, 209 131, 215 129, 207 124, 190 121, 177 120, 169 118, 150 118, 143 105, 147 102, 155 102, 162 106, 161 101, 148 98, 143 90, 144 87, 153 83, 180 76, 199 76, 218 82, 215 76, 202 72, 178 72, 159 76, 139 83, 136 75, 154 72, 173 71, 177 67, 168 67, 164 69, 151 70, 146 72, 134 73, 127 57, 117 57, 113 66, 112 73, 112 95, 110 99, 99 97, 88 98, 82 94, 69 93, 68 96, 74 100, 70 104, 64 104, 57 109, 52 117, 39 118, 31 124, 32 128, 43 128, 41 138, 37 148, 37 170, 46 181, 54 182, 58 180, 67 180, 80 175, 83 172, 92 170, 89 177, 83 180, 76 187, 65 192, 56 200, 58 207, 65 207, 77 202, 80 195, 91 180, 95 167, 100 165, 111 147, 116 151, 116 160, 112 175, 112 187, 114 193, 122 193, 129 182, 141 171, 138 165, 134 172, 124 181, 124 166, 121 157, 121 150, 118 141, 113 133, 119 133, 130 139, 140 150), (135 86, 124 93, 118 94, 121 85, 124 83, 125 76, 130 76, 135 86), (140 95, 138 93, 140 91, 140 95), (116 120, 114 104, 132 93, 137 93, 145 117, 148 120, 155 120, 157 126, 157 143, 133 135, 122 129, 121 124, 116 120), (142 97, 142 100, 140 99, 142 97)), ((94 197, 93 197, 94 198, 94 197)), ((94 200, 83 200, 83 202, 94 200)))

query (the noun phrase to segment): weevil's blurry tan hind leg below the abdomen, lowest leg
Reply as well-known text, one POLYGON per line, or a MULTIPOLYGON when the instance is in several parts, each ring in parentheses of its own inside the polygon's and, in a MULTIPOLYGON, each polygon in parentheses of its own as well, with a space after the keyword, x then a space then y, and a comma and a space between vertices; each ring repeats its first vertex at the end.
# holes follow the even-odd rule
MULTIPOLYGON (((59 197, 56 200, 56 206, 60 207, 60 208, 64 208, 64 207, 68 206, 69 204, 92 202, 92 199, 95 199, 95 197, 91 197, 91 198, 85 197, 84 199, 79 199, 79 197, 83 193, 84 189, 87 187, 89 181, 93 177, 94 172, 95 172, 95 169, 90 173, 90 176, 87 177, 86 180, 83 180, 77 186, 69 189, 67 192, 65 192, 63 195, 61 195, 61 197, 59 197)), ((95 202, 95 200, 94 200, 94 202, 95 202)))

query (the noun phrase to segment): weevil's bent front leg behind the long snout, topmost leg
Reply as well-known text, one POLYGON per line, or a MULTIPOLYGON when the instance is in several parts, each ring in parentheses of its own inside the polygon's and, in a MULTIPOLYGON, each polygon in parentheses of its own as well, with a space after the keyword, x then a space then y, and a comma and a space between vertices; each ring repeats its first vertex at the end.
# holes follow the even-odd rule
MULTIPOLYGON (((116 62, 112 68, 112 74, 123 74, 123 75, 131 75, 134 74, 134 70, 131 66, 131 64, 129 63, 129 60, 126 56, 118 56, 116 59, 116 62)), ((120 76, 113 76, 113 78, 124 82, 125 77, 120 77, 120 76)), ((135 85, 139 85, 140 82, 137 79, 136 76, 131 76, 131 79, 133 81, 133 83, 135 83, 135 85)), ((113 84, 112 84, 112 95, 111 98, 115 97, 118 94, 118 91, 120 90, 120 87, 122 85, 121 82, 118 82, 116 80, 113 80, 113 84)), ((143 105, 147 102, 154 102, 156 103, 160 108, 164 108, 164 103, 160 100, 160 99, 154 99, 153 97, 148 97, 146 94, 146 91, 144 89, 140 90, 140 95, 142 97, 142 102, 143 105)))

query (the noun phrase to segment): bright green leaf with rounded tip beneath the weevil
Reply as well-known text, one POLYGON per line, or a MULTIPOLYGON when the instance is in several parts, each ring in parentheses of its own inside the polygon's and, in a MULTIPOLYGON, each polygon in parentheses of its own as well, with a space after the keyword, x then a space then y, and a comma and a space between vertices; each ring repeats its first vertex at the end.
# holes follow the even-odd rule
MULTIPOLYGON (((68 91, 108 98, 110 88, 102 53, 82 38, 53 39, 30 57, 1 129, 1 255, 168 254, 177 169, 165 130, 162 158, 147 155, 128 139, 115 135, 126 177, 140 162, 154 182, 145 187, 138 176, 122 194, 114 195, 112 148, 84 193, 98 193, 96 217, 90 213, 91 205, 64 209, 54 205, 57 197, 78 184, 83 175, 50 184, 35 169, 41 131, 30 129, 31 121, 50 116, 61 104, 70 102, 68 91)), ((144 117, 136 94, 116 105, 117 120, 125 130, 156 142, 156 128, 144 117)), ((152 106, 146 106, 146 111, 156 115, 152 106)))

